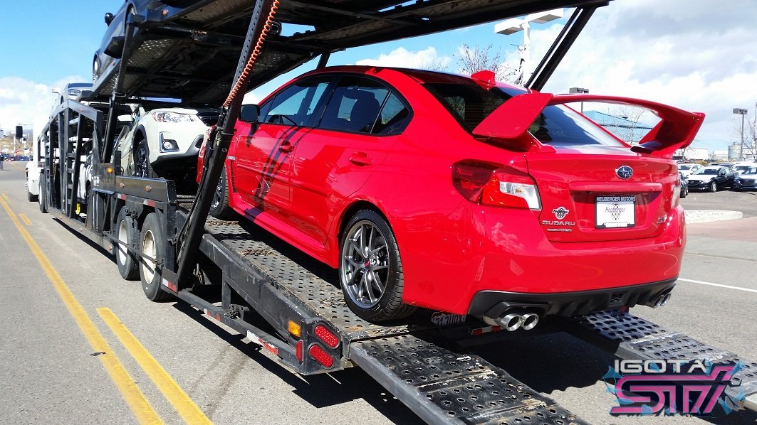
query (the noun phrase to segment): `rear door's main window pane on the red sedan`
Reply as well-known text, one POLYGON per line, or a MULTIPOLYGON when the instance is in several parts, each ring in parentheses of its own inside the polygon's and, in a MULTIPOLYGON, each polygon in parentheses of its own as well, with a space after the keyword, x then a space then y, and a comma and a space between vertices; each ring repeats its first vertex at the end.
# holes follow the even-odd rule
POLYGON ((372 79, 342 77, 323 112, 319 128, 371 133, 389 90, 372 79))

